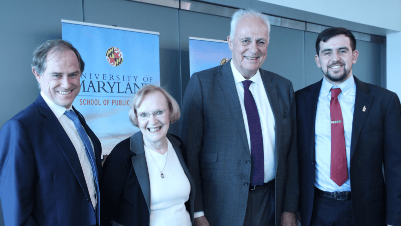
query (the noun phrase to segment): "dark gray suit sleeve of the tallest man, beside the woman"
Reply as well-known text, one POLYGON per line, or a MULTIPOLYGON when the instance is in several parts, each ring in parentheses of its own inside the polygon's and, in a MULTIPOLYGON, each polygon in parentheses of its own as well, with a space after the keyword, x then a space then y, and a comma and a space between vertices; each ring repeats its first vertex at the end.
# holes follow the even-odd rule
POLYGON ((195 181, 194 211, 204 211, 202 187, 200 181, 199 156, 202 151, 204 130, 202 84, 194 73, 189 80, 182 101, 182 116, 180 119, 180 137, 184 142, 186 160, 189 172, 195 181))

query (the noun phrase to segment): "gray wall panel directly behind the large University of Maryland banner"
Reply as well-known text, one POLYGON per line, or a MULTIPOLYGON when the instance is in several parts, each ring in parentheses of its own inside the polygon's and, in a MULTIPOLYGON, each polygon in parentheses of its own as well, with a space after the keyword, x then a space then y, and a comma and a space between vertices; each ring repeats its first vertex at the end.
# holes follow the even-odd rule
MULTIPOLYGON (((85 0, 84 4, 87 23, 160 33, 160 85, 181 106, 178 9, 123 0, 85 0)), ((168 132, 179 134, 178 128, 176 122, 170 125, 168 132)))

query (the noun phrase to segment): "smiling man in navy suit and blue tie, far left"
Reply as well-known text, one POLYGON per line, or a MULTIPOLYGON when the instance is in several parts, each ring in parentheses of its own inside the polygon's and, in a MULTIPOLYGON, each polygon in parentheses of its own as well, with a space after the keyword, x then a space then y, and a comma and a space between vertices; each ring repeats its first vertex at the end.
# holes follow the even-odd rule
POLYGON ((63 40, 34 52, 38 98, 0 131, 5 224, 99 225, 101 144, 72 106, 85 63, 63 40))

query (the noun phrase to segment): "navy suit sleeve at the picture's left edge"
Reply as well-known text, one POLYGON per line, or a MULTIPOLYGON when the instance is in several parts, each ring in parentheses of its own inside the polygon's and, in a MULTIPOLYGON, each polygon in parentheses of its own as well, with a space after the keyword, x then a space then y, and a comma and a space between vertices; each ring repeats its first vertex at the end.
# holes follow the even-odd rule
POLYGON ((6 225, 37 225, 33 218, 35 159, 24 126, 8 121, 0 131, 0 198, 6 225))

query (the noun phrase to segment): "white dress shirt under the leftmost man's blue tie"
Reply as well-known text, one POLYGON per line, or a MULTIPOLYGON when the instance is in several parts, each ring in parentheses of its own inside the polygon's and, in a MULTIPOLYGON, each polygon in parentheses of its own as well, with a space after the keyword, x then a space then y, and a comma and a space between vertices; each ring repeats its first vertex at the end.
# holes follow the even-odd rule
MULTIPOLYGON (((61 126, 63 127, 64 131, 67 133, 68 137, 70 138, 72 144, 74 145, 75 150, 77 151, 79 162, 81 163, 82 171, 84 172, 86 185, 88 186, 89 195, 91 197, 93 208, 96 208, 96 186, 95 181, 93 179, 92 174, 92 166, 89 162, 88 155, 86 154, 85 145, 82 141, 77 129, 75 128, 74 122, 70 120, 64 112, 66 110, 73 110, 72 106, 70 108, 65 108, 63 106, 57 105, 53 101, 51 101, 42 91, 41 95, 50 109, 53 111, 56 118, 59 120, 61 126)), ((89 141, 93 148, 93 143, 91 138, 88 136, 89 141)), ((66 181, 68 183, 68 181, 66 181)))

